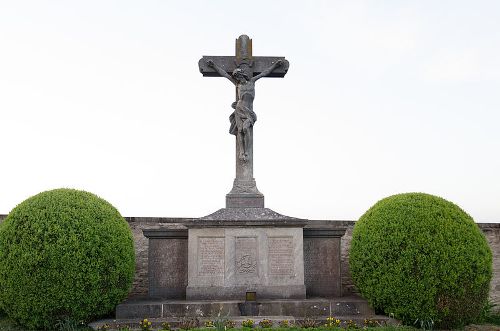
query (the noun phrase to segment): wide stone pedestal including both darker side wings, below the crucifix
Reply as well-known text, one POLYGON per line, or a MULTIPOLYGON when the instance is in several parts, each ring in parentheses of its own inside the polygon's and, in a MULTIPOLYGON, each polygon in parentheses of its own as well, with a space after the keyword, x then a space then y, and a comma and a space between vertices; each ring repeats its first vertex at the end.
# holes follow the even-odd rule
POLYGON ((339 222, 224 208, 143 230, 150 298, 245 301, 342 296, 339 222), (307 225, 306 225, 307 223, 307 225))

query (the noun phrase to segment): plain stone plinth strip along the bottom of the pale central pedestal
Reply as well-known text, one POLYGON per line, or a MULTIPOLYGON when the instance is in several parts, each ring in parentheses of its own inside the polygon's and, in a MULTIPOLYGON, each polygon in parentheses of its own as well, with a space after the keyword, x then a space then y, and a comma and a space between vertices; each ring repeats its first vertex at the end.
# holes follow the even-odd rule
POLYGON ((186 297, 198 300, 245 300, 247 292, 255 292, 257 300, 266 299, 305 299, 305 285, 288 286, 211 286, 186 288, 186 297))

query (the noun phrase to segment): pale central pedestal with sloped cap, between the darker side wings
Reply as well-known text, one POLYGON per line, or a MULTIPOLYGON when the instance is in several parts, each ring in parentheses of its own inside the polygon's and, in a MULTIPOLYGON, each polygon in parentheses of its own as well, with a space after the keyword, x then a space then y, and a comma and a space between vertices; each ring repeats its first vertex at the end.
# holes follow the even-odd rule
POLYGON ((267 208, 225 208, 189 228, 187 299, 305 298, 306 220, 267 208))

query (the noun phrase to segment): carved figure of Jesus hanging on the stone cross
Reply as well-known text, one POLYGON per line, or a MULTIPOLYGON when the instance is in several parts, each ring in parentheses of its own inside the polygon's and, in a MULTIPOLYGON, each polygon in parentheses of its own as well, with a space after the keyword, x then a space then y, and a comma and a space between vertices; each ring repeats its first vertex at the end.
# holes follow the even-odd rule
POLYGON ((255 98, 255 82, 262 77, 269 75, 279 66, 283 65, 282 60, 278 60, 266 70, 262 71, 255 77, 249 75, 242 68, 236 68, 232 75, 229 75, 224 69, 215 64, 212 60, 207 61, 207 65, 214 68, 219 75, 226 77, 236 86, 236 101, 233 102, 232 107, 234 112, 229 117, 231 127, 229 133, 234 134, 239 139, 240 160, 246 162, 248 160, 248 149, 252 144, 251 128, 257 115, 253 111, 253 100, 255 98))

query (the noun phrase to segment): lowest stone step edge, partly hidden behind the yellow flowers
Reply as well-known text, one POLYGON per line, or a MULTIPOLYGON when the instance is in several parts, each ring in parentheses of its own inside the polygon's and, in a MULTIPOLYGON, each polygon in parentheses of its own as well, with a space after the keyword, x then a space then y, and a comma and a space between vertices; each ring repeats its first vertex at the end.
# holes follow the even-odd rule
MULTIPOLYGON (((317 316, 317 317, 309 317, 309 320, 313 320, 316 322, 317 326, 324 325, 326 323, 326 318, 327 316, 317 316)), ((367 320, 369 320, 371 323, 376 323, 377 325, 398 325, 399 322, 391 319, 387 316, 381 316, 381 315, 345 315, 345 316, 335 316, 336 319, 339 319, 341 321, 341 326, 346 327, 351 321, 351 323, 356 323, 357 326, 363 327, 366 323, 367 320)), ((197 319, 200 326, 205 325, 205 321, 208 320, 213 320, 213 318, 206 318, 206 317, 201 317, 201 318, 195 318, 195 317, 185 317, 184 320, 195 320, 197 319)), ((301 323, 304 322, 304 318, 294 318, 293 316, 229 316, 226 319, 231 320, 235 323, 235 327, 239 328, 241 327, 241 323, 247 319, 251 319, 254 321, 254 325, 256 329, 261 329, 258 327, 259 322, 262 321, 263 319, 268 319, 273 322, 273 327, 277 327, 278 323, 283 320, 287 320, 289 322, 290 326, 293 325, 301 325, 301 323)), ((139 323, 142 321, 142 318, 128 318, 128 319, 105 319, 105 320, 100 320, 96 321, 93 323, 90 323, 89 326, 94 329, 98 330, 102 328, 103 325, 108 325, 111 327, 111 329, 118 329, 120 327, 127 327, 133 330, 139 329, 139 323)), ((168 322, 172 328, 179 328, 181 321, 183 318, 175 318, 175 317, 169 317, 169 318, 148 318, 148 321, 152 323, 152 328, 153 329, 159 329, 164 322, 168 322)), ((214 329, 215 330, 215 329, 214 329)))

